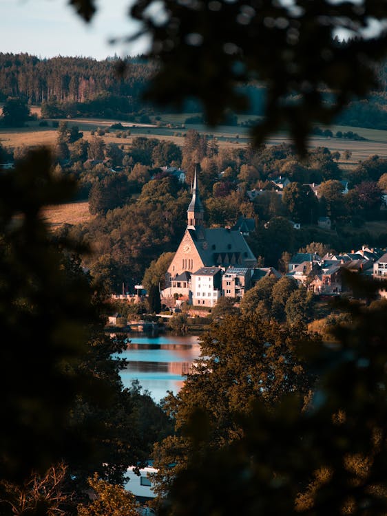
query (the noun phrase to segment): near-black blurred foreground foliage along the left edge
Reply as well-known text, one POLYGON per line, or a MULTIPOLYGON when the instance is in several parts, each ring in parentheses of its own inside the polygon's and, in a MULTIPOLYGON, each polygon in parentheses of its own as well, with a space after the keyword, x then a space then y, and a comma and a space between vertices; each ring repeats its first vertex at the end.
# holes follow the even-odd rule
MULTIPOLYGON (((90 281, 72 274, 74 262, 59 252, 39 215, 42 206, 71 198, 76 188, 72 180, 52 175, 51 158, 45 149, 30 152, 0 178, 7 192, 0 199, 0 321, 3 338, 12 342, 2 347, 0 360, 2 409, 8 414, 0 431, 0 477, 18 481, 72 453, 80 459, 90 453, 77 448, 76 427, 69 429, 67 422, 74 400, 87 398, 93 382, 86 387, 85 376, 72 374, 70 364, 84 358, 87 329, 98 324, 98 316, 90 281), (15 216, 17 226, 11 222, 15 216), (32 335, 39 336, 39 361, 32 335)), ((70 239, 64 248, 75 252, 70 239)))

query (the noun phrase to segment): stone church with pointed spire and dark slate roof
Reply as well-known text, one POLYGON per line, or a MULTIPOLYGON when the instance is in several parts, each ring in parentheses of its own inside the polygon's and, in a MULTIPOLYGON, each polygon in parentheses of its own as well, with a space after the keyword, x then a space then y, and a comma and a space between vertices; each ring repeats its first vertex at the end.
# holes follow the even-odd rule
POLYGON ((189 295, 191 275, 202 268, 230 266, 253 269, 255 256, 238 229, 206 228, 200 201, 197 174, 193 178, 192 199, 187 209, 187 228, 166 275, 163 297, 189 295))

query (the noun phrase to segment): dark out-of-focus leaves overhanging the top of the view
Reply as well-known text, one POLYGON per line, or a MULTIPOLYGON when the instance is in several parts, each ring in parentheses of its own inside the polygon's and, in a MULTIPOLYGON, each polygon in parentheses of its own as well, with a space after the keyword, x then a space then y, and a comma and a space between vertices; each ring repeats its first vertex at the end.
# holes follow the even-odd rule
MULTIPOLYGON (((86 21, 92 18, 92 0, 72 3, 86 21)), ((364 30, 370 19, 383 23, 386 7, 386 0, 138 0, 129 13, 140 30, 125 41, 150 36, 148 56, 159 68, 148 100, 181 108, 198 99, 214 125, 229 110, 249 111, 240 85, 264 85, 255 143, 288 129, 303 153, 313 122, 328 124, 351 100, 377 89, 375 63, 386 56, 387 34, 379 29, 367 38, 364 30), (335 35, 343 30, 351 39, 339 43, 335 35)))

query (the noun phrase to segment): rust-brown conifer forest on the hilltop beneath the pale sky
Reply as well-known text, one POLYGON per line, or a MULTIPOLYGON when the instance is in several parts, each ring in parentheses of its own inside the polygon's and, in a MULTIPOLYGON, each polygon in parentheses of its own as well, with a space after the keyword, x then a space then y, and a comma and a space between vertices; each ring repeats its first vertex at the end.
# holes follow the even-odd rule
POLYGON ((0 99, 21 97, 28 103, 83 103, 101 95, 137 99, 155 71, 140 56, 128 58, 125 74, 118 60, 86 57, 39 59, 30 54, 0 53, 0 99))

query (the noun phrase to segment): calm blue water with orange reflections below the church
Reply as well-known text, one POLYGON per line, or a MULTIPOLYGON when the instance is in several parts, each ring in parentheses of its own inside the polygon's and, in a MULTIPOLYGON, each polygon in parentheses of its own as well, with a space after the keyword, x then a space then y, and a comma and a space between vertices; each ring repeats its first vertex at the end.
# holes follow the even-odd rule
POLYGON ((137 379, 156 402, 172 391, 177 394, 184 383, 184 374, 200 354, 197 336, 163 335, 158 337, 129 336, 127 350, 120 356, 127 359, 121 371, 124 387, 137 379))

